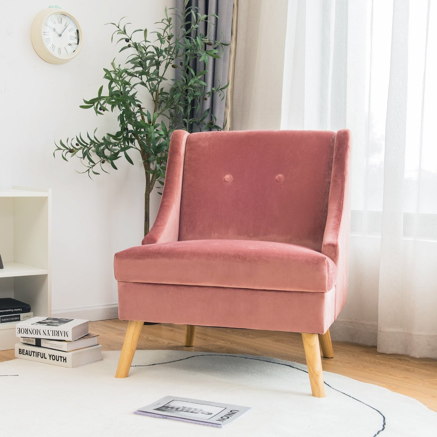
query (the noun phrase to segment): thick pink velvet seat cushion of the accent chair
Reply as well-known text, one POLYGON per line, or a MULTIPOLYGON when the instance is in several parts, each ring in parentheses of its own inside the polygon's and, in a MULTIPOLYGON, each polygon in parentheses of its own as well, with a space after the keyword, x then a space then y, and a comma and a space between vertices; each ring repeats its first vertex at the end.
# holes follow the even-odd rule
POLYGON ((135 246, 115 254, 115 278, 124 282, 203 285, 325 293, 336 266, 322 253, 288 243, 187 240, 135 246))

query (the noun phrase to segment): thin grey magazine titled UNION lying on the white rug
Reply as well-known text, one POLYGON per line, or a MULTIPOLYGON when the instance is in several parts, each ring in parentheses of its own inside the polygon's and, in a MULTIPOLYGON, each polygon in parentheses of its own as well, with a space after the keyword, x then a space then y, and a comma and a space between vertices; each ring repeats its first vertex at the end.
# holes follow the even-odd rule
POLYGON ((166 396, 134 413, 222 428, 251 409, 252 407, 166 396))

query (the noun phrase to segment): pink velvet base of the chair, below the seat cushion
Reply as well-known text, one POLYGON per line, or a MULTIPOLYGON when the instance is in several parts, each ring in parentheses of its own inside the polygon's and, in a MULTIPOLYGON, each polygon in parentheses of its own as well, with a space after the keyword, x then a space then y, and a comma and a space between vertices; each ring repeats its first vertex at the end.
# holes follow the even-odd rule
POLYGON ((118 282, 118 317, 177 325, 324 334, 334 321, 327 293, 118 282))

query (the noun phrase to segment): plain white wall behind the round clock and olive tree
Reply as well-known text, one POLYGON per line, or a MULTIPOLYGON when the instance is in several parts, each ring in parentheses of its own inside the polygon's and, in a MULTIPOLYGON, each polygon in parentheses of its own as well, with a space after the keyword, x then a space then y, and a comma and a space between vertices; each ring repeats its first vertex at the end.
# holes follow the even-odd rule
MULTIPOLYGON (((141 244, 144 174, 120 159, 119 170, 90 180, 78 159, 53 158, 54 140, 99 127, 104 134, 113 120, 79 108, 82 98, 97 95, 103 67, 118 49, 111 45, 110 21, 128 17, 132 30, 155 30, 164 7, 175 0, 63 0, 83 31, 83 48, 71 62, 52 65, 35 53, 30 38, 35 15, 49 3, 3 2, 0 15, 0 187, 24 185, 53 190, 52 309, 112 306, 117 302, 113 257, 141 244)), ((122 52, 119 59, 125 59, 122 52)), ((134 158, 133 153, 131 154, 134 158)), ((135 160, 134 160, 135 161, 135 160)), ((151 205, 152 221, 160 196, 151 205)), ((1 248, 0 248, 1 253, 1 248)))

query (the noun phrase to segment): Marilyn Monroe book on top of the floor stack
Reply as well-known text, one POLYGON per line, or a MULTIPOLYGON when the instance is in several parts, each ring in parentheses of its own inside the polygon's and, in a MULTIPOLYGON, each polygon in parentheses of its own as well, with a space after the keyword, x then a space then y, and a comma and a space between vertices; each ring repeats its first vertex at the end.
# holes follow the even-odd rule
POLYGON ((58 317, 32 317, 17 323, 17 337, 49 338, 51 340, 77 340, 88 331, 88 320, 59 319, 58 317))

